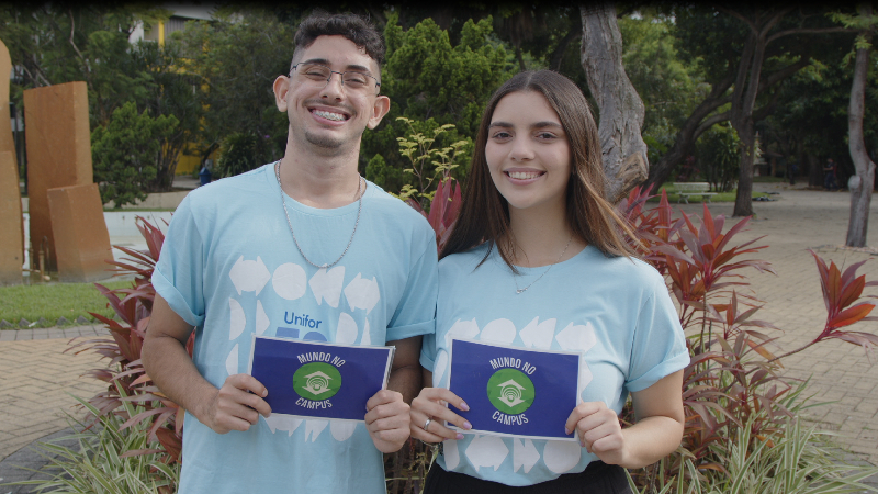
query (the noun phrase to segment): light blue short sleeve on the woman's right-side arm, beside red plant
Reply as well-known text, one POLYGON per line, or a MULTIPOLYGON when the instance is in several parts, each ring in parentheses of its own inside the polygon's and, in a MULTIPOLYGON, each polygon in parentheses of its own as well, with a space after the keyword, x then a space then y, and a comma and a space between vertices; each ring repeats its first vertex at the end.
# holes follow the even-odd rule
POLYGON ((689 364, 686 337, 664 280, 655 273, 652 293, 640 310, 631 364, 626 377, 628 391, 642 391, 689 364))

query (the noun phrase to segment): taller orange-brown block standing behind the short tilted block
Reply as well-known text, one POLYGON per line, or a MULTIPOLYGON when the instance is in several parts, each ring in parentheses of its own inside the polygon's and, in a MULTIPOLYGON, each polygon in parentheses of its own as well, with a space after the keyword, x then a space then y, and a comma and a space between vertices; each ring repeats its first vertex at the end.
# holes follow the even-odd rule
POLYGON ((25 90, 24 125, 31 245, 36 256, 43 237, 48 238, 46 269, 56 270, 57 243, 46 191, 93 182, 86 83, 67 82, 25 90))

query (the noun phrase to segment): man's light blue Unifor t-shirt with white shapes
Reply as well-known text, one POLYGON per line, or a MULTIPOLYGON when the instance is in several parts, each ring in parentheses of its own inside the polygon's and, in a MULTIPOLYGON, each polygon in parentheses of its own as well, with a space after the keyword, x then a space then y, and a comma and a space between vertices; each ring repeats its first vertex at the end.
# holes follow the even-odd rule
MULTIPOLYGON (((336 260, 358 203, 319 210, 285 201, 305 255, 316 263, 336 260)), ((247 372, 254 333, 346 345, 432 333, 436 263, 426 220, 369 183, 348 252, 328 270, 311 266, 293 244, 267 165, 185 198, 153 283, 195 326, 193 360, 218 388, 247 372)), ((274 415, 224 435, 190 414, 184 424, 181 494, 386 491, 382 454, 364 423, 274 415)))

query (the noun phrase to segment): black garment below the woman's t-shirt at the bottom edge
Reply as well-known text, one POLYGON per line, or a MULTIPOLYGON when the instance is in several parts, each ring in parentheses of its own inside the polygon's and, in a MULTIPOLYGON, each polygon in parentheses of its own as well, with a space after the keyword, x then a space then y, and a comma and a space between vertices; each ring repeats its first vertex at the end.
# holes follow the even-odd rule
POLYGON ((581 473, 564 473, 558 479, 514 487, 465 473, 447 472, 434 463, 424 485, 425 494, 632 494, 624 470, 615 464, 593 461, 581 473))

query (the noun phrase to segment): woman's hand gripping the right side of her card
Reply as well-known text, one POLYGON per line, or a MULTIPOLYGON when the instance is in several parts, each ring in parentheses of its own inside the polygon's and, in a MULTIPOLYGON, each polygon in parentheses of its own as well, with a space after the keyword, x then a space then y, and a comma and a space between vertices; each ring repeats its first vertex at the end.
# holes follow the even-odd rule
POLYGON ((604 402, 579 403, 567 417, 564 433, 575 429, 579 445, 607 464, 626 462, 626 441, 616 412, 604 402))

